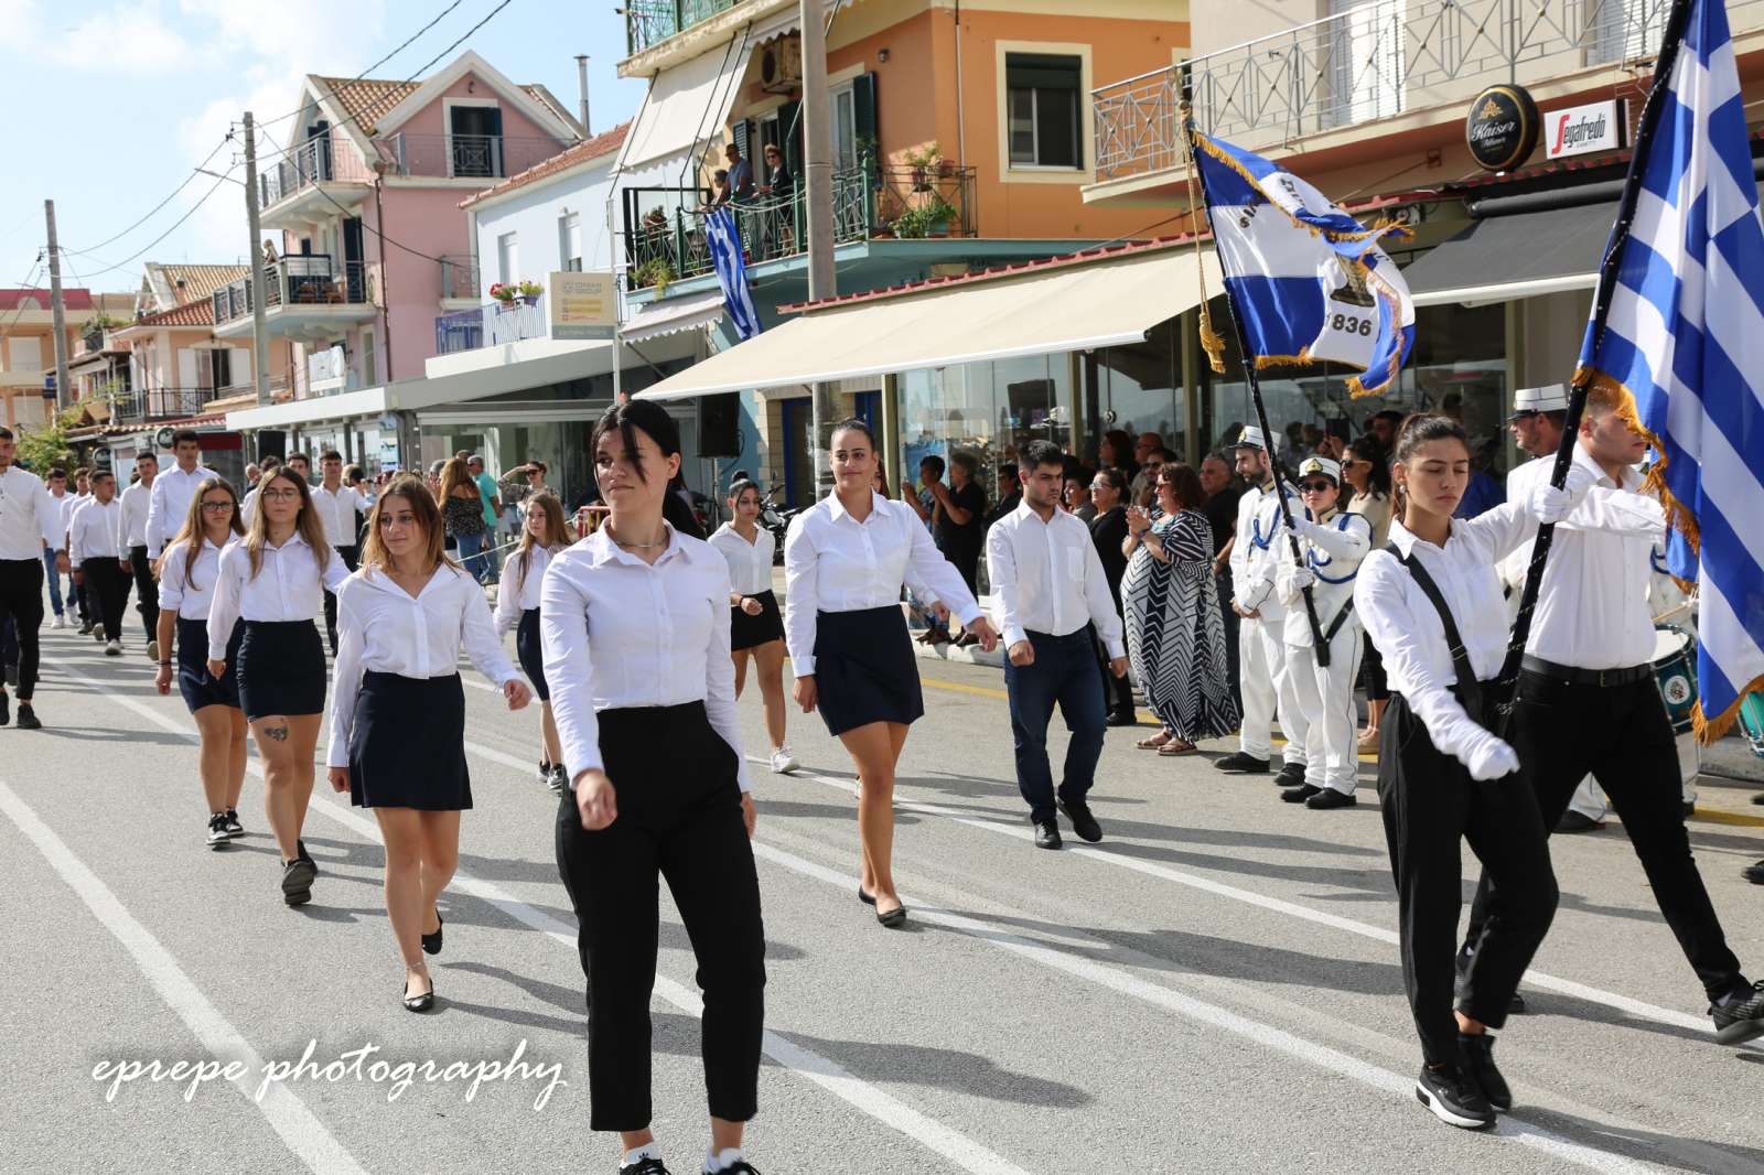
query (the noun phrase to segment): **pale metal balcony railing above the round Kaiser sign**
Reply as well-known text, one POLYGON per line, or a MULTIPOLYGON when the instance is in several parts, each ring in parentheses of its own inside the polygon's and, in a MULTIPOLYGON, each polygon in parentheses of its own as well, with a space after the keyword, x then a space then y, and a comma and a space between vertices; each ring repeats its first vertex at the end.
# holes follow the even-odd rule
MULTIPOLYGON (((1764 4, 1732 0, 1729 12, 1764 4)), ((1671 0, 1367 0, 1335 16, 1097 88, 1097 178, 1185 162, 1182 79, 1207 134, 1268 148, 1658 53, 1671 0)), ((1757 9, 1764 14, 1764 9, 1757 9)), ((1734 18, 1734 26, 1753 23, 1734 18)))

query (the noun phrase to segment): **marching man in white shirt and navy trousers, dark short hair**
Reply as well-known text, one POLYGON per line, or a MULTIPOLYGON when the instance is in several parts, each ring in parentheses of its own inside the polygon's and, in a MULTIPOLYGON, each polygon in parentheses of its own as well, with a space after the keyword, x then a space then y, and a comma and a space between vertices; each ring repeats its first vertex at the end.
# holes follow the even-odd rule
POLYGON ((1090 626, 1110 655, 1110 672, 1127 676, 1127 646, 1090 528, 1060 508, 1065 455, 1051 441, 1018 450, 1023 501, 986 533, 998 632, 1007 662, 1016 787, 1028 805, 1037 849, 1060 847, 1055 808, 1081 840, 1102 840, 1090 813, 1090 785, 1102 757, 1102 692, 1090 626), (1067 730, 1065 769, 1055 794, 1048 766, 1048 722, 1058 702, 1067 730))

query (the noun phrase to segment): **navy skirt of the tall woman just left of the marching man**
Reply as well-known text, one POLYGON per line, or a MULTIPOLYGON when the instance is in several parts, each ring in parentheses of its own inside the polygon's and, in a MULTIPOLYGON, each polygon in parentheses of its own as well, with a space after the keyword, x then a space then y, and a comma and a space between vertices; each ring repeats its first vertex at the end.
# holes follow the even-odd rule
POLYGON ((815 695, 829 734, 924 716, 919 663, 898 603, 815 614, 815 695))

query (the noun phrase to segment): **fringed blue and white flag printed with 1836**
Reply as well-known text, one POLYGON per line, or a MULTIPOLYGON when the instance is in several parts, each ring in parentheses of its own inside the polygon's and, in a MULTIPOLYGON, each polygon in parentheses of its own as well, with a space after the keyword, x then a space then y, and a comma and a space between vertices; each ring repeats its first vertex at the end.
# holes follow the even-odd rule
POLYGON ((1415 344, 1415 302, 1379 240, 1261 155, 1196 134, 1214 247, 1258 367, 1344 363, 1353 395, 1390 388, 1415 344))

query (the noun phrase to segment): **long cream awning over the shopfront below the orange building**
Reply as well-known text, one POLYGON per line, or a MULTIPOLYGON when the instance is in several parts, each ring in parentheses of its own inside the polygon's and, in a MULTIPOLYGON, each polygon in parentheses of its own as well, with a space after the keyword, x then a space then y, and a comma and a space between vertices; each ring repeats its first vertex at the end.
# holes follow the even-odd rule
MULTIPOLYGON (((1212 251, 1212 293, 1222 289, 1212 251)), ((1200 305, 1194 247, 1050 265, 958 281, 794 318, 639 392, 679 400, 714 392, 829 383, 981 360, 1143 342, 1200 305)))

